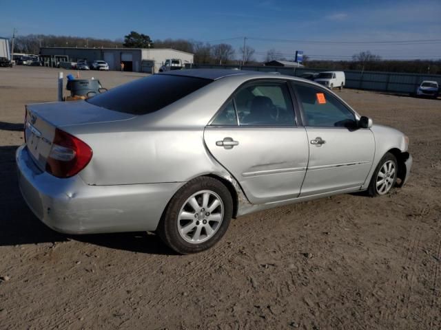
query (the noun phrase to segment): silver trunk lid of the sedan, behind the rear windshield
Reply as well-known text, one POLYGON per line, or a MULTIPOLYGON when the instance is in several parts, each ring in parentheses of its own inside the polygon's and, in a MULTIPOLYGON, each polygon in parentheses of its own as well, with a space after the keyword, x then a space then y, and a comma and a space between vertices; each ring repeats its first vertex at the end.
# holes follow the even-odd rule
POLYGON ((134 115, 107 110, 85 101, 28 104, 25 139, 34 162, 45 170, 55 129, 63 126, 128 120, 134 115))

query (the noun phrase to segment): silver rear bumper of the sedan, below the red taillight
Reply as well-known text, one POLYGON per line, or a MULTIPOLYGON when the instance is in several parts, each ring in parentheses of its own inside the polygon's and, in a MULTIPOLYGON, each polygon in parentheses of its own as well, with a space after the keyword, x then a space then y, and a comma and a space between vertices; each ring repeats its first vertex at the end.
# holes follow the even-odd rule
POLYGON ((75 175, 59 179, 35 166, 23 145, 16 153, 23 199, 46 225, 66 234, 156 230, 183 182, 89 186, 75 175))

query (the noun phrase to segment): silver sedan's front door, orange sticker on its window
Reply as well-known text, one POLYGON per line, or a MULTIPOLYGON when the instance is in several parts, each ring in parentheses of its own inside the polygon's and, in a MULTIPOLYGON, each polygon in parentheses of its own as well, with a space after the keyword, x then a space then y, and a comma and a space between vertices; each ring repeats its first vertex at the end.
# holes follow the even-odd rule
POLYGON ((356 115, 329 91, 293 83, 309 140, 309 164, 300 197, 360 188, 371 169, 375 141, 356 115))

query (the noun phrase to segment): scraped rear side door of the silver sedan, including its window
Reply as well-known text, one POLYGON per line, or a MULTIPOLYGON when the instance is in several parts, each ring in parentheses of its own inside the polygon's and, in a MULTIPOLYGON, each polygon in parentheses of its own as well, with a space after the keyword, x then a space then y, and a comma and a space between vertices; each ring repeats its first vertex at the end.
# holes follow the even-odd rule
POLYGON ((240 87, 204 133, 210 153, 252 203, 298 197, 308 161, 288 83, 254 80, 240 87))

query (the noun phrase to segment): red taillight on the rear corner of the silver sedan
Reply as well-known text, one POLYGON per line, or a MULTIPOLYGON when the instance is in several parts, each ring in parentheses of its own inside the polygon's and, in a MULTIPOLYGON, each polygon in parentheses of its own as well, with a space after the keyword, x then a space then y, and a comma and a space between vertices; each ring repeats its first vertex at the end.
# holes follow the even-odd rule
POLYGON ((56 177, 72 177, 92 159, 90 146, 61 129, 55 129, 54 142, 46 161, 46 171, 56 177))

